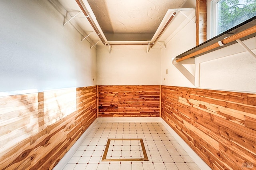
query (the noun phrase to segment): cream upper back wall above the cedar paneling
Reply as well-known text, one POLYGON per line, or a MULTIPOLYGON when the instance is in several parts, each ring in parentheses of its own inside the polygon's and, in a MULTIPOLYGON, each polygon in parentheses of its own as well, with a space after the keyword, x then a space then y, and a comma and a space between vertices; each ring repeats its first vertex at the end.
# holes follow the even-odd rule
POLYGON ((142 46, 97 49, 98 85, 160 85, 161 51, 142 46))

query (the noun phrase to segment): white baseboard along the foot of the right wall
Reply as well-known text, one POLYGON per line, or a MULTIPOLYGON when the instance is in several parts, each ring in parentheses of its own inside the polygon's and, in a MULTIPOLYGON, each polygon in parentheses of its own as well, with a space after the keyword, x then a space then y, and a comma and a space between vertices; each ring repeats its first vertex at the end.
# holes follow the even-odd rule
POLYGON ((212 170, 210 166, 208 166, 196 152, 190 148, 190 146, 164 121, 164 119, 161 118, 161 123, 164 125, 164 127, 172 134, 172 136, 175 138, 175 140, 182 146, 182 148, 188 153, 188 155, 194 160, 194 162, 197 164, 197 166, 201 170, 212 170))

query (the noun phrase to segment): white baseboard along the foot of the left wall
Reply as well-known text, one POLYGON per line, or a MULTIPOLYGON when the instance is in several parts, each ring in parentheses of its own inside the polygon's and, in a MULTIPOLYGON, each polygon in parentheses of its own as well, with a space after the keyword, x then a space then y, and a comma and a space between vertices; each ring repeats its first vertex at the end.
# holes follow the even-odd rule
POLYGON ((68 163, 68 161, 70 160, 70 158, 72 158, 72 156, 74 155, 74 153, 76 152, 76 150, 79 148, 79 146, 82 144, 82 142, 84 141, 84 139, 86 138, 86 136, 89 134, 89 132, 92 130, 92 128, 96 125, 96 123, 98 122, 98 120, 96 119, 86 130, 85 132, 82 134, 82 136, 80 136, 80 138, 78 138, 78 140, 74 143, 74 145, 68 150, 68 152, 63 156, 63 158, 60 160, 60 162, 58 162, 58 164, 53 168, 53 170, 62 170, 66 164, 68 163))

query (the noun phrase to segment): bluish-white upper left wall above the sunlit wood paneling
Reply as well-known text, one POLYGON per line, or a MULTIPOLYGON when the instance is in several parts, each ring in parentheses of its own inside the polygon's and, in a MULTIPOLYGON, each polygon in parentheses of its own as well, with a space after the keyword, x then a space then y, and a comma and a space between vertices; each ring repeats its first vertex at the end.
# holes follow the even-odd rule
POLYGON ((1 0, 0 9, 1 93, 96 85, 96 49, 50 2, 1 0))

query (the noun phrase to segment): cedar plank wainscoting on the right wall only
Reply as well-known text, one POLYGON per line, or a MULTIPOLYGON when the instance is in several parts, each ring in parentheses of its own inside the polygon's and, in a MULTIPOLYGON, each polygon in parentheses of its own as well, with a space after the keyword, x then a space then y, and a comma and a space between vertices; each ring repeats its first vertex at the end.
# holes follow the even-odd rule
POLYGON ((161 91, 162 118, 212 169, 255 169, 256 94, 170 86, 161 91))

